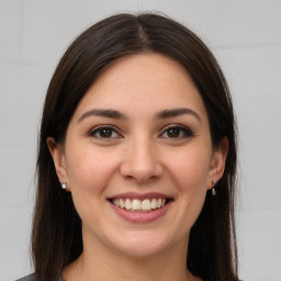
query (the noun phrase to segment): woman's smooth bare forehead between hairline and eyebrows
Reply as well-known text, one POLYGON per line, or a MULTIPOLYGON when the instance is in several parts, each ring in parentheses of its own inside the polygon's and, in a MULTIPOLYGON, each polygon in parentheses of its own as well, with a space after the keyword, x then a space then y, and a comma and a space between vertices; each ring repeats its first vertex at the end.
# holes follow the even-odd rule
POLYGON ((202 98, 186 69, 164 55, 137 54, 110 65, 87 91, 75 115, 92 108, 147 114, 182 106, 206 115, 202 98))

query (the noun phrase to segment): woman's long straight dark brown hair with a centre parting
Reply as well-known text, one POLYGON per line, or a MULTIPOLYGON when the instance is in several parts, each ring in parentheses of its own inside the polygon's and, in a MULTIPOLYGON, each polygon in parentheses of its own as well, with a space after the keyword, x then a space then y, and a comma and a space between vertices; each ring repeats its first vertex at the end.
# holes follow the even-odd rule
POLYGON ((216 196, 207 192, 191 229, 187 267, 203 280, 238 280, 234 220, 237 153, 229 90, 216 59, 194 33, 151 13, 117 14, 92 25, 69 46, 50 80, 40 133, 32 232, 38 280, 58 280, 63 268, 82 252, 81 221, 71 195, 60 188, 46 138, 64 143, 79 101, 112 61, 146 52, 168 56, 187 69, 204 101, 214 149, 228 138, 225 172, 216 196))

